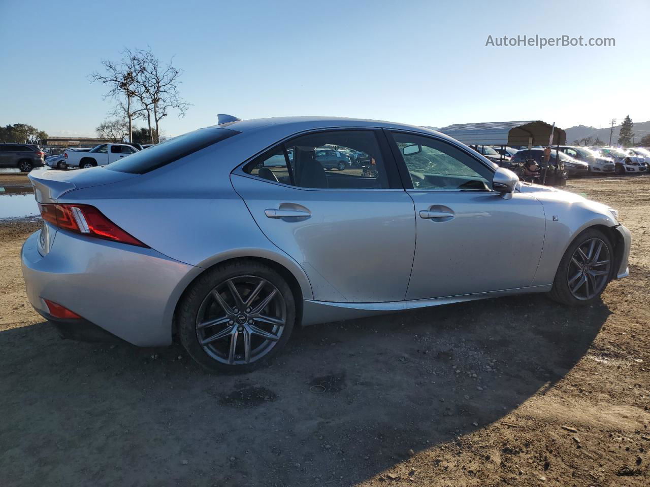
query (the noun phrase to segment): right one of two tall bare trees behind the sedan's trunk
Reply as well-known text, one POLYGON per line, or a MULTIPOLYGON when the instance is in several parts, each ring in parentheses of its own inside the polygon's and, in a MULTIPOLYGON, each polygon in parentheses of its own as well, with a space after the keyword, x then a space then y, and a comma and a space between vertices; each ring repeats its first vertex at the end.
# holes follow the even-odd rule
POLYGON ((168 64, 162 65, 150 48, 146 51, 138 50, 136 58, 138 100, 147 114, 151 144, 158 144, 161 120, 170 113, 170 110, 177 110, 179 117, 185 116, 190 107, 178 92, 179 77, 183 71, 172 65, 173 58, 168 64), (152 117, 154 130, 151 127, 152 117))

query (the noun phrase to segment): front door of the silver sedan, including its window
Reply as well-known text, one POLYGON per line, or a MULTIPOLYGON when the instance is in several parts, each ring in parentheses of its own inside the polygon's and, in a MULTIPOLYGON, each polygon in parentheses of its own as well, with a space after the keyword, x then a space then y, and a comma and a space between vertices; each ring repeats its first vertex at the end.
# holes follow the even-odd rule
POLYGON ((491 190, 493 170, 438 140, 393 132, 395 153, 413 188, 417 242, 406 299, 525 287, 544 242, 541 203, 491 190))

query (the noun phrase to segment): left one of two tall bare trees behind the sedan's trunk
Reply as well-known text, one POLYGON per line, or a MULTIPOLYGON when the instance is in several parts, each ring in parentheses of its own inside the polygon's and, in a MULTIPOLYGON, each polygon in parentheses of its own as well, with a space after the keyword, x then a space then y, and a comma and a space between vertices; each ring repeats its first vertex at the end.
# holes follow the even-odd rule
POLYGON ((136 54, 130 49, 124 49, 122 59, 118 62, 102 61, 104 73, 94 72, 90 75, 90 82, 101 82, 110 89, 104 98, 118 101, 116 111, 122 112, 129 125, 129 141, 133 139, 133 120, 142 114, 142 107, 135 103, 136 86, 140 75, 140 62, 136 54))

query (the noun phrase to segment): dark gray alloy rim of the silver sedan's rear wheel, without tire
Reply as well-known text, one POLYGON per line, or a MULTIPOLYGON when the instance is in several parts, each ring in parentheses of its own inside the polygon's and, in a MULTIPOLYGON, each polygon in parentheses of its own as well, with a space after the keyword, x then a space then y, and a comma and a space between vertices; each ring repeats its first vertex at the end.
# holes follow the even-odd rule
POLYGON ((221 282, 203 299, 196 337, 217 362, 252 364, 273 349, 286 323, 287 306, 278 288, 244 275, 221 282))

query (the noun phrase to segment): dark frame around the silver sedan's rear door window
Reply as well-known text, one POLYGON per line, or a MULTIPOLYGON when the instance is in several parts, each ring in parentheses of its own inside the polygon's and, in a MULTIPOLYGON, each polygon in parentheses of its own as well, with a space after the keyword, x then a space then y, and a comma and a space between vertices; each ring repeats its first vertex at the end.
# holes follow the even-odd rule
MULTIPOLYGON (((393 155, 393 152, 391 151, 389 141, 386 138, 386 134, 384 132, 383 127, 326 127, 322 129, 307 129, 304 131, 300 132, 295 132, 289 136, 286 136, 276 142, 274 142, 272 145, 268 145, 265 147, 265 149, 255 153, 255 155, 249 157, 246 159, 244 162, 239 164, 235 169, 231 171, 231 174, 243 176, 243 177, 250 177, 252 179, 255 179, 256 181, 263 181, 263 182, 268 182, 269 184, 278 184, 279 186, 283 186, 285 188, 292 188, 294 190, 302 190, 302 191, 324 191, 324 192, 348 192, 348 191, 404 191, 406 188, 404 188, 404 184, 401 181, 401 177, 399 175, 399 169, 397 167, 397 163, 395 160, 395 156, 393 155), (317 133, 322 133, 322 132, 343 132, 343 131, 366 131, 366 132, 374 132, 374 135, 377 140, 377 145, 379 147, 380 153, 382 154, 383 157, 383 162, 385 166, 385 171, 386 171, 386 177, 388 179, 388 184, 389 188, 303 188, 302 186, 294 186, 293 184, 285 184, 283 182, 276 182, 276 181, 270 181, 268 179, 261 178, 259 176, 254 176, 252 174, 246 173, 244 171, 244 168, 250 164, 250 162, 253 162, 256 158, 259 156, 264 155, 267 152, 270 152, 276 147, 282 147, 283 152, 285 153, 285 160, 287 162, 287 168, 291 166, 289 164, 289 155, 287 154, 287 147, 286 147, 286 142, 289 140, 296 138, 296 137, 302 137, 305 135, 309 134, 317 134, 317 133)), ((291 181, 293 181, 293 172, 291 169, 291 181)))

